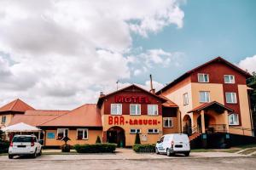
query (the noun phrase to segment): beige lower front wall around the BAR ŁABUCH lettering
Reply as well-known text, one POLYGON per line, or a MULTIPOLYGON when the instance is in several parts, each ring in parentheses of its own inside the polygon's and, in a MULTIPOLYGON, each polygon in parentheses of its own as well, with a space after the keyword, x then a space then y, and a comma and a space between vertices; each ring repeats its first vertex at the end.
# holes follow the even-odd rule
MULTIPOLYGON (((136 134, 131 134, 130 133, 130 129, 131 128, 140 128, 141 129, 141 134, 140 134, 140 139, 141 139, 141 143, 142 144, 155 144, 157 142, 158 139, 160 139, 160 137, 163 135, 163 129, 162 129, 162 116, 130 116, 130 115, 122 115, 125 118, 125 122, 131 119, 131 120, 135 120, 135 119, 154 119, 157 120, 157 125, 130 125, 129 123, 125 123, 124 125, 108 125, 108 116, 111 115, 104 115, 103 116, 103 122, 104 122, 104 126, 103 126, 103 131, 108 131, 108 129, 110 127, 122 127, 125 130, 125 145, 126 146, 132 146, 135 142, 135 136, 136 134), (158 134, 148 134, 148 128, 157 128, 159 129, 158 134), (146 141, 143 141, 143 135, 146 135, 146 141)), ((175 126, 177 126, 175 124, 175 126)))

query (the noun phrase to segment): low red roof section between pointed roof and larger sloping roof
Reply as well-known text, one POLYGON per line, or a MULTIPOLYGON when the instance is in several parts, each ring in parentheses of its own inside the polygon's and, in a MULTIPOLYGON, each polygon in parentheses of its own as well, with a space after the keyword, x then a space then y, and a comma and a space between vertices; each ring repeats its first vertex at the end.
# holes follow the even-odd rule
POLYGON ((67 112, 68 111, 26 111, 24 115, 15 115, 9 125, 24 122, 28 125, 38 127, 40 124, 48 122, 49 120, 52 120, 55 117, 61 116, 67 112))

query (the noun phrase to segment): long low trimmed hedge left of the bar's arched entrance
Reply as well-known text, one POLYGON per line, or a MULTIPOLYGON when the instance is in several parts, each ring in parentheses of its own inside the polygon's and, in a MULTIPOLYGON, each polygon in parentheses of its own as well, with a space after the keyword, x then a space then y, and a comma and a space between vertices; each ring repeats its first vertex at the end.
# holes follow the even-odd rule
POLYGON ((73 146, 78 153, 112 153, 117 144, 76 144, 73 146))

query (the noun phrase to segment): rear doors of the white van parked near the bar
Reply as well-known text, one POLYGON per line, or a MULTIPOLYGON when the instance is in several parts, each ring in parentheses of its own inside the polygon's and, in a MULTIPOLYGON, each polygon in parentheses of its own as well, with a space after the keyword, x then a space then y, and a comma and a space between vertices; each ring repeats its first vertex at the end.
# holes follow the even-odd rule
POLYGON ((190 150, 189 137, 187 134, 174 134, 173 135, 173 150, 175 151, 186 151, 190 150))

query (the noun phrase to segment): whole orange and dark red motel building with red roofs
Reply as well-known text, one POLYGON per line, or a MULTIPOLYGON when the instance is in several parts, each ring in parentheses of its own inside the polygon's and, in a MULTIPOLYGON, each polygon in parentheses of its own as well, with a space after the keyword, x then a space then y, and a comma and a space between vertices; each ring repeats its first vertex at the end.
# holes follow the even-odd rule
POLYGON ((0 108, 1 127, 20 122, 38 127, 42 131, 36 135, 48 147, 64 144, 64 136, 72 145, 95 144, 99 136, 102 142, 129 147, 136 133, 142 144, 155 144, 167 133, 188 133, 192 147, 221 147, 254 136, 247 77, 218 57, 156 93, 152 86, 148 91, 131 85, 72 111, 36 110, 16 99, 0 108))

